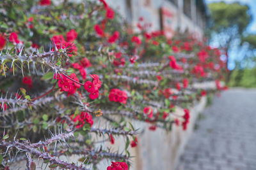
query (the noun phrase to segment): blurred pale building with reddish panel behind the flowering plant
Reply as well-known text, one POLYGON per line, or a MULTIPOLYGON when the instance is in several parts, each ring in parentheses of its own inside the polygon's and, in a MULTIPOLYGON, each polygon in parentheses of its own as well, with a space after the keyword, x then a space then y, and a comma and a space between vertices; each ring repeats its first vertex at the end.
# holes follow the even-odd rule
POLYGON ((191 32, 202 38, 207 20, 204 0, 106 0, 136 30, 139 18, 152 23, 152 31, 191 32))

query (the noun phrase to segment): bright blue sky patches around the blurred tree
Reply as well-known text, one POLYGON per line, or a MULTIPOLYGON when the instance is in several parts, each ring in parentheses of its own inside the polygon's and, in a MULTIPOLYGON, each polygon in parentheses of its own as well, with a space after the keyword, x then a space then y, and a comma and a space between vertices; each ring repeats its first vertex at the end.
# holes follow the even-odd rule
MULTIPOLYGON (((246 31, 251 34, 256 34, 256 0, 205 0, 206 3, 214 3, 220 1, 224 1, 225 3, 239 2, 241 4, 247 4, 250 8, 250 13, 252 14, 252 21, 248 25, 246 31)), ((237 49, 234 49, 231 53, 228 53, 228 69, 234 69, 234 67, 236 66, 235 60, 243 60, 241 56, 237 55, 237 53, 239 53, 238 51, 237 49)))

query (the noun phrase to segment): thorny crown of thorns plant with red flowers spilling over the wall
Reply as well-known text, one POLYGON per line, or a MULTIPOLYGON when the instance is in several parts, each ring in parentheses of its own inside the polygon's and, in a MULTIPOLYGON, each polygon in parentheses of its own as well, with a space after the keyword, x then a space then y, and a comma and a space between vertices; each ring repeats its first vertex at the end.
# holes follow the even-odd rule
POLYGON ((133 122, 186 131, 189 108, 227 89, 221 50, 193 34, 167 39, 143 18, 132 32, 104 0, 0 4, 1 168, 128 169, 143 131, 133 122))

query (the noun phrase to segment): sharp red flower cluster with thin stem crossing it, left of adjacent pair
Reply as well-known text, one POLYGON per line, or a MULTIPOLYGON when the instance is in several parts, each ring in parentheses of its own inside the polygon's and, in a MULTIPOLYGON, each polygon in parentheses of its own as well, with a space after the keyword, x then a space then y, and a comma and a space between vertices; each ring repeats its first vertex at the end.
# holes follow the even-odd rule
POLYGON ((58 85, 61 89, 61 92, 68 92, 68 96, 70 96, 70 94, 74 94, 76 93, 76 89, 80 88, 81 85, 79 83, 76 83, 75 81, 79 82, 79 79, 76 77, 75 73, 71 73, 70 76, 68 76, 69 78, 67 78, 66 76, 63 76, 63 74, 58 74, 56 76, 56 74, 54 74, 54 79, 58 80, 58 85), (75 81, 72 81, 75 80, 75 81))

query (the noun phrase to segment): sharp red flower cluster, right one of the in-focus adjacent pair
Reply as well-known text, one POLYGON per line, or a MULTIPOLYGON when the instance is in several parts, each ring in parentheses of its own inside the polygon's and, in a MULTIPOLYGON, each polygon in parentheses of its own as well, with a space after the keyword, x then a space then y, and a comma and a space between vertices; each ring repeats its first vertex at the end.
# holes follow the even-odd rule
POLYGON ((90 99, 94 100, 99 97, 99 89, 101 87, 101 81, 97 74, 90 74, 90 76, 93 78, 93 81, 86 81, 84 83, 84 89, 90 93, 89 95, 90 99))

